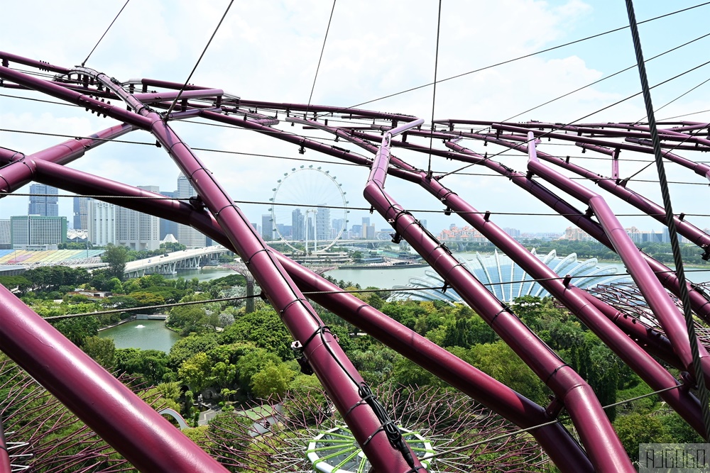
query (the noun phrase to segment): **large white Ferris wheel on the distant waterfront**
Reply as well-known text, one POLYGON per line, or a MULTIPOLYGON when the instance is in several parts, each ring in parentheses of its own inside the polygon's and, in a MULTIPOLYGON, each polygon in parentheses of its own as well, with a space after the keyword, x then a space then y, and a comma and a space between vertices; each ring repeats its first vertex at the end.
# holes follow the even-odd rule
POLYGON ((320 167, 294 167, 278 179, 271 201, 273 239, 296 252, 324 252, 348 224, 342 184, 320 167))

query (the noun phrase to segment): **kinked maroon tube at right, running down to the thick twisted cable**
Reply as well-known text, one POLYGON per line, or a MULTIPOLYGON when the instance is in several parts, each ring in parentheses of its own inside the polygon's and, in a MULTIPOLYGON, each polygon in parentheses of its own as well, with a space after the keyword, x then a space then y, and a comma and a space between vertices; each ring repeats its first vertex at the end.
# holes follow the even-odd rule
MULTIPOLYGON (((530 132, 530 136, 532 137, 532 132, 530 132)), ((537 157, 535 157, 535 147, 532 145, 532 141, 530 145, 528 145, 528 149, 530 150, 530 160, 528 161, 528 169, 530 169, 530 171, 535 172, 535 174, 542 177, 542 179, 564 190, 567 194, 589 204, 589 207, 599 219, 599 223, 601 223, 604 232, 609 240, 611 240, 616 252, 621 257, 621 260, 623 260, 624 265, 626 265, 634 282, 638 285, 639 291, 643 294, 651 310, 665 330, 667 337, 673 345, 674 351, 687 367, 687 370, 692 373, 692 355, 690 352, 688 333, 684 323, 682 323, 683 321, 678 308, 673 301, 671 301, 670 296, 665 292, 660 282, 658 282, 658 279, 655 277, 655 274, 653 274, 648 264, 643 260, 638 248, 630 240, 626 234, 626 230, 624 230, 611 208, 608 207, 606 201, 604 201, 599 194, 586 189, 586 187, 577 184, 577 182, 573 182, 568 177, 559 174, 559 172, 542 165, 542 163, 537 160, 537 157)), ((708 359, 707 351, 702 345, 699 349, 701 364, 703 365, 707 377, 708 374, 710 374, 710 360, 708 359)))

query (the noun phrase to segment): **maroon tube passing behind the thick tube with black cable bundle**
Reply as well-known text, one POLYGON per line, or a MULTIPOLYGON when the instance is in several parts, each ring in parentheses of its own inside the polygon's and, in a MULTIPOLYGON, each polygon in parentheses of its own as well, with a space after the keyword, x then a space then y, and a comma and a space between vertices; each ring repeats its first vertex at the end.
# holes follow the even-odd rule
MULTIPOLYGON (((110 198, 102 200, 193 226, 210 235, 219 243, 234 249, 234 245, 226 238, 212 216, 208 213, 197 212, 184 202, 165 200, 160 194, 153 194, 150 191, 46 162, 37 163, 36 180, 37 182, 53 182, 55 184, 59 182, 60 188, 80 194, 107 194, 109 192, 116 196, 155 196, 154 201, 110 198)), ((302 291, 339 291, 337 286, 317 274, 297 265, 275 250, 272 252, 302 291)), ((370 333, 385 345, 409 357, 437 377, 461 389, 476 401, 500 413, 501 416, 508 418, 521 428, 529 428, 550 421, 545 410, 537 404, 520 396, 496 379, 471 367, 413 330, 364 304, 352 294, 308 294, 308 296, 325 308, 339 313, 339 316, 349 323, 370 333)), ((589 459, 579 449, 579 445, 569 437, 562 425, 546 425, 532 430, 531 435, 535 436, 563 472, 593 471, 589 459)))

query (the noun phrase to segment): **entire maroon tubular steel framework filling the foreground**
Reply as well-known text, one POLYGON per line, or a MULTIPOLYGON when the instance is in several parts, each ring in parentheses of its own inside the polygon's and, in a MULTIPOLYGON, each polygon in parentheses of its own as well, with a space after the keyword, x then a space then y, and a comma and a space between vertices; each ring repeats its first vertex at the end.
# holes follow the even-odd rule
MULTIPOLYGON (((589 385, 542 343, 509 307, 485 289, 452 257, 444 245, 422 228, 415 216, 385 191, 384 184, 388 174, 420 185, 441 201, 447 211, 461 213, 471 226, 486 235, 486 238, 518 262, 528 274, 542 279, 541 284, 550 294, 594 330, 594 333, 653 389, 672 388, 679 386, 679 382, 651 355, 681 369, 688 369, 692 363, 689 339, 682 325, 682 318, 674 301, 663 289, 665 286, 670 291, 677 292, 677 277, 667 272, 669 270, 666 267, 638 251, 599 194, 589 191, 583 185, 573 182, 542 163, 551 162, 591 179, 602 189, 657 218, 662 214, 660 206, 626 189, 626 182, 619 179, 620 150, 650 150, 647 146, 648 129, 643 126, 625 123, 555 126, 541 123, 447 120, 435 122, 443 126, 442 129, 422 130, 417 129, 422 121, 417 121, 414 117, 364 110, 348 110, 343 113, 342 118, 352 118, 356 121, 371 119, 373 126, 364 127, 362 123, 328 126, 327 119, 318 120, 316 116, 342 113, 340 108, 246 101, 228 96, 221 89, 200 86, 186 87, 180 96, 180 102, 176 104, 175 112, 170 116, 163 116, 156 110, 167 109, 170 102, 178 96, 175 90, 180 89, 182 84, 154 79, 140 79, 121 84, 92 69, 68 69, 6 52, 0 52, 0 60, 2 87, 33 89, 121 122, 92 137, 70 140, 33 155, 0 148, 0 163, 4 164, 4 167, 0 168, 0 192, 10 193, 28 182, 36 181, 77 194, 103 195, 105 197, 102 200, 128 208, 138 208, 146 213, 193 226, 235 250, 249 265, 251 273, 280 313, 293 338, 305 345, 303 353, 306 359, 378 471, 404 473, 412 471, 413 468, 418 471, 422 469, 419 462, 411 459, 408 461, 402 451, 391 445, 381 428, 383 420, 378 418, 376 409, 363 399, 360 390, 361 377, 342 352, 337 340, 324 327, 306 301, 304 292, 314 293, 307 295, 520 427, 528 428, 554 420, 562 408, 565 408, 577 428, 586 453, 559 423, 531 432, 562 471, 633 471, 633 466, 589 385), (59 75, 53 80, 37 79, 11 69, 11 63, 48 70, 59 75), (168 90, 153 91, 148 90, 148 87, 168 90), (99 100, 97 97, 109 101, 99 100), (110 100, 119 100, 129 109, 126 110, 122 105, 111 105, 110 100), (259 109, 262 113, 259 113, 259 109), (263 113, 264 110, 269 113, 263 113), (280 123, 278 113, 285 114, 288 121, 302 123, 307 128, 324 130, 361 146, 372 152, 374 158, 371 160, 336 146, 273 128, 280 123), (314 117, 309 119, 307 113, 312 113, 314 117), (537 406, 351 294, 324 294, 337 291, 337 287, 268 247, 217 179, 168 125, 170 120, 190 116, 200 116, 203 119, 268 133, 273 138, 371 168, 364 195, 373 209, 390 221, 396 232, 395 240, 408 240, 447 284, 454 287, 538 377, 550 386, 555 393, 552 404, 547 408, 537 406), (490 131, 474 133, 471 128, 468 133, 457 129, 464 125, 485 126, 490 131), (365 133, 364 128, 379 130, 383 137, 365 133), (64 166, 96 145, 136 129, 147 130, 155 136, 182 173, 190 179, 204 205, 199 202, 191 205, 166 201, 162 196, 151 192, 64 166), (572 131, 574 133, 569 133, 572 131), (395 135, 400 134, 401 140, 393 140, 395 135), (583 167, 572 165, 567 160, 535 150, 535 138, 543 134, 552 139, 574 140, 585 149, 609 155, 613 177, 602 178, 583 167), (440 138, 445 141, 448 150, 430 150, 425 145, 408 143, 408 137, 440 138), (499 162, 461 147, 455 143, 458 138, 484 140, 486 143, 525 152, 529 156, 528 172, 515 172, 499 162), (391 147, 430 152, 435 156, 484 165, 509 177, 514 184, 564 214, 570 221, 621 255, 660 323, 658 330, 635 323, 633 317, 628 315, 622 316, 608 301, 597 299, 569 282, 554 279, 557 277, 554 272, 503 233, 489 216, 482 215, 454 191, 444 187, 440 182, 444 175, 435 176, 431 172, 408 165, 391 155, 391 147), (535 175, 584 202, 590 211, 585 213, 577 210, 533 179, 535 175), (154 197, 155 200, 131 201, 119 199, 119 196, 154 197), (591 218, 593 215, 599 219, 599 223, 591 218)), ((694 134, 697 130, 708 128, 708 124, 678 122, 670 125, 669 128, 661 130, 661 140, 666 148, 710 150, 710 141, 694 134)), ((667 159, 710 179, 710 167, 675 155, 670 150, 665 154, 667 159)), ((685 222, 683 218, 678 217, 677 224, 683 235, 707 252, 710 247, 708 235, 685 222)), ((692 284, 689 284, 689 289, 694 311, 704 320, 710 321, 710 304, 706 296, 702 291, 693 290, 692 284)), ((5 323, 0 324, 0 349, 38 379, 138 469, 224 471, 217 462, 195 447, 152 408, 3 288, 0 288, 0 316, 5 319, 5 323), (87 397, 94 402, 89 404, 83 401, 87 397), (120 418, 121 425, 118 425, 114 418, 120 418), (163 454, 156 455, 156 452, 163 454)), ((701 357, 707 377, 710 375, 710 362, 704 348, 701 348, 701 357)), ((687 381, 692 382, 692 375, 687 377, 687 381)), ((699 403, 686 386, 670 389, 661 396, 693 428, 699 432, 703 431, 699 403)), ((0 452, 0 471, 1 456, 0 452)))

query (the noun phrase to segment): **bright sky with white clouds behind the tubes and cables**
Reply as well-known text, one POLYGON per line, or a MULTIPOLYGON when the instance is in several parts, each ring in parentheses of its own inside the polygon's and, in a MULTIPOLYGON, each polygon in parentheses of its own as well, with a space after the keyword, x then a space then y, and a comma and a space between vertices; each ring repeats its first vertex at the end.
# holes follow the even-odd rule
MULTIPOLYGON (((0 50, 65 67, 79 65, 124 3, 124 0, 5 2, 0 50)), ((700 3, 699 0, 637 1, 636 18, 643 21, 700 3)), ((199 6, 194 1, 131 0, 86 65, 121 82, 140 77, 185 82, 228 4, 227 0, 204 1, 199 6)), ((436 71, 439 79, 628 26, 626 7, 621 0, 443 0, 441 5, 436 71)), ((235 1, 190 82, 224 89, 244 99, 307 103, 332 6, 329 0, 235 1)), ((353 106, 369 102, 362 108, 408 113, 429 122, 433 87, 375 99, 433 81, 438 7, 439 2, 432 0, 337 0, 312 103, 353 106)), ((648 59, 706 35, 709 27, 705 19, 709 13, 710 5, 700 6, 641 24, 644 56, 648 59)), ((650 84, 701 65, 709 45, 710 37, 703 38, 648 62, 650 84)), ((440 82, 433 115, 435 119, 503 121, 515 117, 516 121, 569 123, 640 91, 636 69, 534 111, 525 111, 632 65, 635 57, 626 28, 440 82)), ((710 85, 690 91, 708 79, 709 71, 710 66, 699 67, 653 89, 657 119, 683 116, 682 119, 690 121, 710 121, 710 112, 706 111, 710 109, 707 94, 710 85), (678 98, 682 94, 685 95, 678 98), (672 104, 664 106, 670 101, 672 104), (701 111, 704 112, 697 113, 701 111)), ((110 118, 97 118, 82 108, 27 101, 17 96, 55 101, 31 91, 0 88, 0 146, 4 148, 31 153, 66 139, 18 131, 74 137, 114 124, 110 118)), ((594 113, 584 121, 638 121, 644 116, 643 101, 638 96, 594 113)), ((278 127, 287 129, 285 126, 288 123, 278 127)), ((173 122, 173 127, 192 148, 257 155, 197 150, 232 199, 265 203, 240 204, 253 222, 261 223, 262 214, 271 208, 268 199, 273 197, 278 179, 301 165, 320 166, 336 177, 351 207, 350 224, 360 223, 361 217, 368 216, 366 211, 358 210, 368 207, 362 197, 368 169, 333 163, 333 158, 312 150, 300 155, 295 145, 247 130, 187 122, 173 122)), ((312 130, 305 133, 318 135, 312 130)), ((124 139, 154 141, 142 131, 124 139)), ((471 140, 459 144, 481 153, 498 151, 471 140)), ((356 150, 354 146, 344 147, 356 150)), ((555 155, 572 155, 573 162, 595 172, 611 173, 608 161, 590 160, 590 154, 581 155, 579 148, 559 145, 546 148, 544 142, 539 148, 555 155)), ((395 155, 414 165, 426 165, 426 158, 421 155, 399 153, 395 150, 395 155)), ((678 154, 692 160, 707 160, 691 152, 678 154)), ((623 162, 622 175, 633 174, 650 159, 649 155, 633 156, 633 153, 624 157, 647 162, 623 162)), ((523 156, 501 157, 506 165, 523 171, 525 160, 523 156)), ((125 143, 102 145, 70 166, 126 184, 159 186, 163 191, 175 190, 179 173, 164 150, 125 143)), ((436 157, 432 162, 432 168, 441 172, 459 166, 436 157)), ((562 217, 540 215, 550 211, 507 179, 486 175, 491 173, 479 167, 466 172, 469 174, 447 177, 444 183, 474 207, 493 213, 532 214, 494 216, 499 226, 559 233, 569 226, 562 217)), ((667 165, 667 173, 672 182, 692 183, 671 184, 674 211, 706 213, 707 182, 674 165, 667 165)), ((649 167, 636 178, 657 179, 655 168, 649 167)), ((633 184, 634 190, 660 203, 657 183, 633 184)), ((432 231, 464 224, 456 216, 444 216, 439 202, 412 184, 391 178, 387 189, 405 208, 413 209, 417 218, 427 220, 432 231)), ((28 192, 28 187, 18 192, 28 192)), ((60 191, 60 194, 66 193, 60 191)), ((613 196, 608 196, 607 201, 625 226, 660 230, 660 223, 648 217, 625 216, 638 211, 613 196)), ((26 196, 0 200, 0 218, 26 213, 27 202, 26 196)), ((72 199, 60 199, 60 215, 72 215, 72 199)), ((371 221, 378 229, 386 227, 378 216, 371 221)), ((710 227, 710 218, 694 217, 692 222, 699 228, 710 227)))

